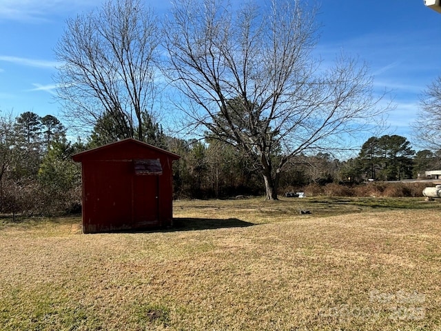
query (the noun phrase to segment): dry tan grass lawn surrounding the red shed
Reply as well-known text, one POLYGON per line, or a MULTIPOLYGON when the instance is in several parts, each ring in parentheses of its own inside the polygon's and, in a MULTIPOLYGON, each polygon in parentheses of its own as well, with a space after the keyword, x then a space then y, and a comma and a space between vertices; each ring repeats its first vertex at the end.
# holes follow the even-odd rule
POLYGON ((107 234, 0 218, 0 330, 441 330, 441 201, 176 201, 174 217, 107 234))

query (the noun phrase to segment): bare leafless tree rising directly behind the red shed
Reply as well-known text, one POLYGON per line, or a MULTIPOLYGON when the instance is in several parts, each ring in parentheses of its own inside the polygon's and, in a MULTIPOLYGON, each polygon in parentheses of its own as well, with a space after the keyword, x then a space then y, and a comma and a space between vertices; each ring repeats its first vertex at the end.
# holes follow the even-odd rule
POLYGON ((154 73, 161 36, 141 0, 107 1, 100 11, 69 19, 55 53, 65 117, 92 129, 112 114, 125 137, 143 140, 141 119, 154 103, 154 73))

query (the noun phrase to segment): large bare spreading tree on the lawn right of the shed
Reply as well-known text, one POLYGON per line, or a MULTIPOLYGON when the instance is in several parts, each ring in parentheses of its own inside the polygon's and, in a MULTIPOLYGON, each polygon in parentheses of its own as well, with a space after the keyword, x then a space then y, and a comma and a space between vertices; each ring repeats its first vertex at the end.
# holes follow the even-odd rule
POLYGON ((234 11, 222 0, 176 0, 164 30, 167 76, 190 101, 181 103, 187 118, 254 160, 266 199, 277 199, 290 159, 342 147, 339 137, 360 132, 384 109, 365 64, 340 56, 320 69, 312 56, 316 8, 268 5, 234 11))

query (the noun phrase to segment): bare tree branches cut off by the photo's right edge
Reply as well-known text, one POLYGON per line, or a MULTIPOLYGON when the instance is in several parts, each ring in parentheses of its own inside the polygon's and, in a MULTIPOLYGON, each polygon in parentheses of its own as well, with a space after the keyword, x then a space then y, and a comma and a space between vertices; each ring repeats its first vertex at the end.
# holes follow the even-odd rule
POLYGON ((420 146, 441 150, 441 75, 422 92, 420 112, 413 129, 420 146))

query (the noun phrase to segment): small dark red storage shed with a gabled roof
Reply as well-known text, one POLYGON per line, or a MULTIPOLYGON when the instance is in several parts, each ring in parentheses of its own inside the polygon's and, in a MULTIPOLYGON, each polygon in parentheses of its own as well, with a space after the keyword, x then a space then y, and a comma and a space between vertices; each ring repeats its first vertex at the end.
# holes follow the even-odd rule
POLYGON ((145 230, 172 224, 177 154, 124 139, 75 154, 83 181, 83 232, 145 230))

